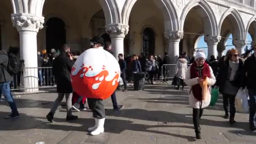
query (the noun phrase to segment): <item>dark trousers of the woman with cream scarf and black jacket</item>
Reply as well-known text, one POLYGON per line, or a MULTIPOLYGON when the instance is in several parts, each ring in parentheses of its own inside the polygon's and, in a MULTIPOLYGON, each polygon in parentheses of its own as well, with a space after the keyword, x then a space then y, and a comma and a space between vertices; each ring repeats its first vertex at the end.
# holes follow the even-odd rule
POLYGON ((223 93, 223 107, 225 113, 230 112, 230 118, 235 117, 235 96, 223 93), (230 109, 230 110, 229 110, 230 109))

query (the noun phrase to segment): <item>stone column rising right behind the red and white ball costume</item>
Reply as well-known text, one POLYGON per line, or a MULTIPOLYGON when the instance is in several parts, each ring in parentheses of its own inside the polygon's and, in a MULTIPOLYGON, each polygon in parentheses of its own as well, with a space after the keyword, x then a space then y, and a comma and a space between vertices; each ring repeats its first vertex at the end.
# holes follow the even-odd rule
POLYGON ((128 34, 129 26, 125 24, 109 24, 106 26, 106 31, 111 38, 112 51, 114 56, 118 59, 118 54, 124 54, 123 40, 125 35, 128 34))

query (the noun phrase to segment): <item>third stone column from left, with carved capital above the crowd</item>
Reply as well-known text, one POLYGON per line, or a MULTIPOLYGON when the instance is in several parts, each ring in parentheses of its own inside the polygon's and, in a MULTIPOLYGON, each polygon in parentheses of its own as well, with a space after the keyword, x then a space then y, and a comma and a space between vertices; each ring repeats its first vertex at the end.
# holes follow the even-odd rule
POLYGON ((179 57, 179 42, 183 38, 183 32, 165 32, 165 37, 168 39, 168 56, 171 59, 171 64, 176 64, 179 57))

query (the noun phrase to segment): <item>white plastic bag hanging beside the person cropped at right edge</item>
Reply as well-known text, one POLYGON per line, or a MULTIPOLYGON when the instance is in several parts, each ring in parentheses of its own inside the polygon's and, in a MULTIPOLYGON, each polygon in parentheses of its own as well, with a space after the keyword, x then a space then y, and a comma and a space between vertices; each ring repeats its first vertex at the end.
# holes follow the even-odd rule
POLYGON ((236 95, 236 107, 238 112, 249 112, 247 89, 240 88, 236 95), (240 106, 240 104, 242 106, 240 106))

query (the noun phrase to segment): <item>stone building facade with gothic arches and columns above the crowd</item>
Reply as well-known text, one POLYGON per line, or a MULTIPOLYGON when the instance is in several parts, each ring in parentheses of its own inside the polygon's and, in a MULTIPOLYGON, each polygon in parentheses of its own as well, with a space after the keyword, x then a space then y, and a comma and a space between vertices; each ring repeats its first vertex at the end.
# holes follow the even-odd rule
POLYGON ((202 35, 208 56, 221 55, 230 34, 243 53, 253 43, 247 32, 256 41, 256 0, 0 1, 1 48, 19 47, 26 67, 37 67, 37 51, 64 43, 82 51, 96 35, 111 41, 116 57, 168 52, 174 64, 183 51, 192 56, 202 35))

